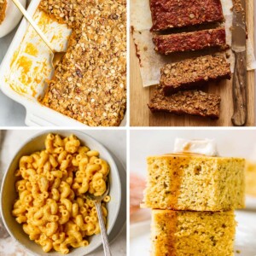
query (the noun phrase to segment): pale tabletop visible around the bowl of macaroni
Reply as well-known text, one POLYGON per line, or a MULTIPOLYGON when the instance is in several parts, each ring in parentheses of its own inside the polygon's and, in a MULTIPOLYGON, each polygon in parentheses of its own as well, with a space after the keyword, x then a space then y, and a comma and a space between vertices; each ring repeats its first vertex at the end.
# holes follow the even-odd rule
MULTIPOLYGON (((7 137, 3 143, 3 150, 1 151, 0 159, 3 161, 1 170, 7 166, 9 160, 11 160, 15 154, 17 148, 32 134, 38 131, 8 131, 7 137)), ((88 135, 96 138, 102 143, 110 152, 116 155, 116 157, 125 163, 125 131, 86 131, 88 135)), ((119 227, 121 230, 122 226, 119 227)), ((125 255, 125 229, 116 241, 113 241, 111 249, 113 255, 125 255)), ((18 246, 10 237, 0 240, 0 255, 29 255, 23 249, 18 246), (14 254, 12 254, 14 253, 14 254)), ((98 249, 96 253, 90 253, 91 256, 102 255, 102 249, 98 249)))

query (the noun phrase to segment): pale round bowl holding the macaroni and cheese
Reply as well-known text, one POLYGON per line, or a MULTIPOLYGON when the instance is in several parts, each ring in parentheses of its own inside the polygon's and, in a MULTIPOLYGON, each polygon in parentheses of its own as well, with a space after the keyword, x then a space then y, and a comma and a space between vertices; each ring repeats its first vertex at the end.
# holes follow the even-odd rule
MULTIPOLYGON (((1 189, 1 214, 3 218, 3 223, 5 224, 6 229, 9 231, 9 234, 15 238, 16 241, 20 243, 21 246, 25 247, 31 253, 35 255, 63 255, 57 252, 44 253, 42 247, 35 243, 35 241, 29 240, 29 237, 22 230, 21 224, 18 224, 15 221, 15 218, 12 216, 12 208, 14 201, 17 198, 17 193, 15 191, 15 182, 18 180, 15 177, 15 171, 18 167, 18 162, 22 155, 31 154, 34 151, 38 151, 44 148, 44 139, 46 135, 51 133, 57 133, 61 136, 67 137, 70 134, 74 134, 79 137, 79 140, 87 145, 91 149, 98 150, 102 159, 107 160, 110 166, 109 173, 109 182, 110 182, 110 191, 109 195, 111 196, 111 201, 107 204, 108 207, 108 234, 113 229, 113 225, 116 222, 116 218, 119 213, 120 202, 121 202, 121 184, 119 178, 118 168, 111 156, 108 153, 108 150, 102 146, 101 143, 98 143, 94 138, 79 132, 79 131, 44 131, 40 132, 21 146, 17 154, 15 154, 14 159, 9 164, 7 171, 3 177, 3 185, 1 189)), ((82 256, 94 251, 97 247, 102 244, 102 236, 95 235, 90 236, 90 244, 87 247, 73 248, 70 250, 68 255, 73 256, 82 256)))

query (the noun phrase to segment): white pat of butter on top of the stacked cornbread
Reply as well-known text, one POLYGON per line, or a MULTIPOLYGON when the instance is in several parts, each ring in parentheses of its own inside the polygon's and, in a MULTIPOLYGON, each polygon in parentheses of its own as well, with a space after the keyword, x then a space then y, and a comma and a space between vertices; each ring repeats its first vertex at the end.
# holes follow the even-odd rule
POLYGON ((217 148, 214 139, 184 139, 178 137, 175 139, 174 143, 174 153, 195 153, 195 154, 204 154, 208 156, 216 156, 217 148))

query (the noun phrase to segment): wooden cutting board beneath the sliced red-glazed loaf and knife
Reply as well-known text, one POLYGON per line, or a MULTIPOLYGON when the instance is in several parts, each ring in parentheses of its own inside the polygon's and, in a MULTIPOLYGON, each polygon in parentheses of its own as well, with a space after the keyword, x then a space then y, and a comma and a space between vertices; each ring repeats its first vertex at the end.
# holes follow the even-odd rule
MULTIPOLYGON (((254 3, 247 3, 248 37, 254 45, 254 3)), ((232 79, 220 84, 209 84, 203 90, 221 96, 220 117, 218 120, 195 116, 177 116, 172 113, 151 113, 149 99, 154 94, 154 86, 143 87, 136 49, 131 37, 130 44, 130 124, 131 126, 232 126, 233 115, 232 79)), ((247 72, 247 126, 255 125, 255 76, 254 71, 247 72)))

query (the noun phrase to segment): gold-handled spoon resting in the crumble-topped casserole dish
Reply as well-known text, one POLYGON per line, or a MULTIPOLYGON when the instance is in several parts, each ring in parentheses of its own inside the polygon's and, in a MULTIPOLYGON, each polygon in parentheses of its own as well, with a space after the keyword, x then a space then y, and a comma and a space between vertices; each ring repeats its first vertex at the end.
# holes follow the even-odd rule
POLYGON ((38 33, 38 36, 43 39, 44 43, 49 47, 50 51, 52 52, 51 55, 51 65, 52 67, 55 67, 60 61, 63 55, 65 55, 66 52, 63 51, 57 51, 54 49, 52 44, 49 43, 49 40, 45 37, 44 33, 40 30, 38 25, 32 20, 32 17, 28 15, 26 12, 26 9, 21 5, 19 0, 12 0, 18 9, 20 9, 20 12, 25 16, 26 20, 30 23, 30 25, 34 28, 34 30, 38 33))

